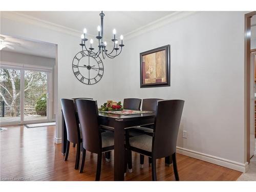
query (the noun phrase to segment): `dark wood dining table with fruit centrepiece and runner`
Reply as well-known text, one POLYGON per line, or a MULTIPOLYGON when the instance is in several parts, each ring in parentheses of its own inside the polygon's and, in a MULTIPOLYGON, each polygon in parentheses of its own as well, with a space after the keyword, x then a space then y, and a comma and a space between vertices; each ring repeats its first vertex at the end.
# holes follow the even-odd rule
MULTIPOLYGON (((62 111, 61 111, 62 113, 62 111)), ((78 118, 78 116, 77 116, 78 118)), ((79 119, 78 119, 79 121, 79 119)), ((125 129, 133 126, 141 126, 147 124, 154 124, 155 113, 144 113, 134 115, 119 115, 112 113, 99 112, 99 124, 105 129, 114 131, 114 180, 124 180, 124 134, 125 129)), ((66 153, 67 147, 67 130, 65 119, 62 114, 62 142, 61 152, 66 153)), ((169 157, 165 158, 165 163, 170 164, 169 157)))

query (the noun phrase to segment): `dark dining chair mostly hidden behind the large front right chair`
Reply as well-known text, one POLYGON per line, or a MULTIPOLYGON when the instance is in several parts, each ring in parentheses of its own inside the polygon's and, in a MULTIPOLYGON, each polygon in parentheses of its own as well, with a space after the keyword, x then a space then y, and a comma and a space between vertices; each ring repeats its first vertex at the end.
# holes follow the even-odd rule
MULTIPOLYGON (((151 111, 151 112, 156 112, 157 109, 157 101, 163 100, 159 98, 148 98, 148 99, 143 99, 142 100, 142 111, 151 111)), ((150 124, 150 125, 143 125, 141 126, 136 126, 132 127, 129 130, 130 136, 136 136, 136 135, 142 135, 148 133, 149 135, 153 134, 153 129, 154 129, 155 124, 150 124)), ((132 172, 132 152, 128 151, 128 167, 129 167, 129 172, 132 172)), ((148 157, 148 164, 151 164, 151 157, 148 157)), ((144 155, 140 154, 140 168, 143 168, 144 166, 144 155)))

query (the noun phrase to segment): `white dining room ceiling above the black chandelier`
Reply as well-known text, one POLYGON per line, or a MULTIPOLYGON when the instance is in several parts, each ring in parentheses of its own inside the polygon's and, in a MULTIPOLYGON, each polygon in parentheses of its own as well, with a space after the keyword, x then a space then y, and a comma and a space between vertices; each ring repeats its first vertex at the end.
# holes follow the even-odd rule
MULTIPOLYGON (((17 13, 71 28, 81 33, 83 28, 87 28, 88 34, 92 36, 97 36, 97 26, 100 25, 100 11, 18 11, 17 13)), ((103 13, 105 13, 104 38, 112 39, 114 28, 119 38, 121 34, 130 33, 172 14, 174 11, 104 11, 103 13)))

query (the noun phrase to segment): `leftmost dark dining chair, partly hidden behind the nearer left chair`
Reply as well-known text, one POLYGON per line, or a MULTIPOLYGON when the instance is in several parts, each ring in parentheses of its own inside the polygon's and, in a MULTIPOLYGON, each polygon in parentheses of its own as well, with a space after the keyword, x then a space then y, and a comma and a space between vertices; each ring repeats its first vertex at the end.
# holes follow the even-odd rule
POLYGON ((81 150, 81 135, 79 124, 76 119, 76 111, 74 101, 71 99, 61 99, 62 112, 67 127, 67 150, 65 154, 65 161, 68 160, 70 142, 77 144, 76 148, 76 163, 75 169, 79 168, 80 150, 81 150))

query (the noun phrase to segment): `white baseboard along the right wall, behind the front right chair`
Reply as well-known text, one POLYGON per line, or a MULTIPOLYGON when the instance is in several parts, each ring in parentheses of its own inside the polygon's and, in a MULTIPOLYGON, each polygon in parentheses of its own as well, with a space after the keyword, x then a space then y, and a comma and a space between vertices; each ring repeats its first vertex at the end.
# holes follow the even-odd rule
POLYGON ((209 163, 214 163, 223 167, 227 167, 227 168, 231 168, 234 170, 238 170, 239 172, 247 172, 249 166, 248 166, 248 162, 246 163, 239 163, 236 161, 230 161, 228 159, 223 159, 220 157, 216 157, 216 156, 212 156, 212 155, 207 155, 204 153, 200 153, 200 152, 196 152, 193 150, 187 150, 186 148, 182 148, 182 147, 178 147, 177 146, 177 153, 178 154, 182 154, 185 156, 189 156, 189 157, 193 157, 196 159, 200 159, 202 161, 206 161, 209 163))

